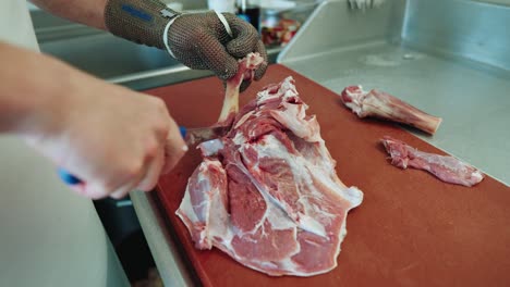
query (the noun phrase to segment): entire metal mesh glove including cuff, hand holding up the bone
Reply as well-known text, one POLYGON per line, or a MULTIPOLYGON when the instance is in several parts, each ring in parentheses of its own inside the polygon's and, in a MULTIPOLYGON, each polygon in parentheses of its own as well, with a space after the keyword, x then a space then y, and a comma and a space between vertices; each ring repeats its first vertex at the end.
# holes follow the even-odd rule
MULTIPOLYGON (((266 72, 267 52, 257 30, 234 14, 222 14, 230 36, 215 12, 181 14, 157 0, 108 0, 105 11, 106 26, 112 34, 169 49, 191 68, 210 70, 226 80, 236 73, 239 59, 258 52, 266 61, 255 71, 255 79, 266 72)), ((241 89, 248 85, 243 83, 241 89)))

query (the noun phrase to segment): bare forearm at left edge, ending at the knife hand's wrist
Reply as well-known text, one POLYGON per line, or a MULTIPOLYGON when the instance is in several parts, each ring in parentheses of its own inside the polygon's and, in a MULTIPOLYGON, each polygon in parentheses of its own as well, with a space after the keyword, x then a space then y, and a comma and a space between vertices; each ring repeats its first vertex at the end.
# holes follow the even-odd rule
POLYGON ((0 63, 0 133, 53 132, 56 115, 68 112, 66 96, 92 78, 52 58, 1 41, 0 63))

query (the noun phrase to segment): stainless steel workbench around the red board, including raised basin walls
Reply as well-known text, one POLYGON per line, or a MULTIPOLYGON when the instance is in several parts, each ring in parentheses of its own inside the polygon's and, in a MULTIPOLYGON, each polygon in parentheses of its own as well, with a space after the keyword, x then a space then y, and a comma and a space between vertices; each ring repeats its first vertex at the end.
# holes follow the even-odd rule
MULTIPOLYGON (((394 0, 367 11, 331 1, 278 62, 337 92, 362 84, 441 116, 433 137, 409 132, 509 185, 508 26, 509 8, 461 0, 394 0)), ((153 197, 132 194, 163 282, 197 284, 153 197)))

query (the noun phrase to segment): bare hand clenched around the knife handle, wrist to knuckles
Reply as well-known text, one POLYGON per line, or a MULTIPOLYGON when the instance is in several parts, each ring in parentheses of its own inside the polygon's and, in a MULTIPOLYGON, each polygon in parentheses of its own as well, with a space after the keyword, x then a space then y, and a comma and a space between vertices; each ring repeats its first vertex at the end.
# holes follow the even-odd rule
POLYGON ((165 103, 96 79, 80 86, 86 88, 70 90, 57 111, 44 115, 45 127, 28 142, 81 178, 71 188, 85 197, 151 190, 186 150, 165 103))

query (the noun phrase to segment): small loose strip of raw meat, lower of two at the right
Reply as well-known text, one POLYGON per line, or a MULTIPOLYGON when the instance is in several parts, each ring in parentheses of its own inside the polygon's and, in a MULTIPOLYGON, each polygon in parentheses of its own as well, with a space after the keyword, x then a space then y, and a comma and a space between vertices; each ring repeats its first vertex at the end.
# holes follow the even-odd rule
POLYGON ((453 157, 418 151, 388 136, 381 139, 381 142, 391 155, 391 164, 394 166, 425 170, 442 182, 457 185, 474 186, 484 179, 478 170, 453 157))

